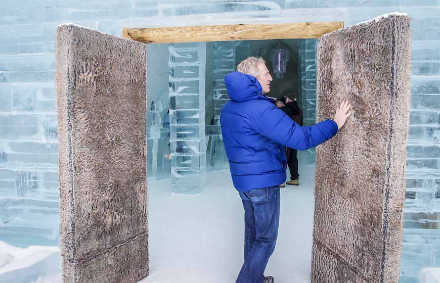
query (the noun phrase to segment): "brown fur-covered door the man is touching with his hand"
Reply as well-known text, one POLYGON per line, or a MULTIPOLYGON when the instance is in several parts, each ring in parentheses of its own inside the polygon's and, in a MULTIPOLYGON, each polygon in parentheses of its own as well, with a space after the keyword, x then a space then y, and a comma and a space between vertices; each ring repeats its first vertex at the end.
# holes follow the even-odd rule
POLYGON ((355 113, 317 148, 312 282, 398 282, 410 105, 410 18, 324 35, 318 120, 355 113))

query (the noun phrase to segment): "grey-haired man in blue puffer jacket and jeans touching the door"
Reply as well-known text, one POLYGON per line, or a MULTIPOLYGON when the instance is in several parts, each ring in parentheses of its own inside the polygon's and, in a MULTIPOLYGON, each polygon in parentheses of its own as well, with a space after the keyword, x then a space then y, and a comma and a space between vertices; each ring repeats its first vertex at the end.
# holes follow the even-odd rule
POLYGON ((296 124, 265 96, 272 77, 261 58, 249 57, 225 76, 230 101, 220 115, 232 181, 245 218, 244 263, 236 283, 272 283, 263 275, 275 249, 280 219, 280 184, 286 181, 284 146, 316 147, 333 137, 351 114, 347 101, 334 120, 296 124))

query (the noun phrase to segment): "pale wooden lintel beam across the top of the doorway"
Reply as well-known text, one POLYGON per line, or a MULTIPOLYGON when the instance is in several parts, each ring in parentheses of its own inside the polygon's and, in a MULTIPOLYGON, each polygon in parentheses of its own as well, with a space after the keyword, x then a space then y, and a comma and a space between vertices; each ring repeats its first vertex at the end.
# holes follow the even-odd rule
POLYGON ((343 26, 343 22, 312 22, 124 28, 123 37, 144 43, 318 38, 343 26))

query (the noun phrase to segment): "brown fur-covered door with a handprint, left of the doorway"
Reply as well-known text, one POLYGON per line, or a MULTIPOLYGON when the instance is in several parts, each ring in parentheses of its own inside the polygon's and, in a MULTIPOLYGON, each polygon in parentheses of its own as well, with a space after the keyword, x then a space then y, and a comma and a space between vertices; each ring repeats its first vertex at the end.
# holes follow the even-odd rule
POLYGON ((148 275, 146 56, 136 41, 58 27, 63 282, 148 275))

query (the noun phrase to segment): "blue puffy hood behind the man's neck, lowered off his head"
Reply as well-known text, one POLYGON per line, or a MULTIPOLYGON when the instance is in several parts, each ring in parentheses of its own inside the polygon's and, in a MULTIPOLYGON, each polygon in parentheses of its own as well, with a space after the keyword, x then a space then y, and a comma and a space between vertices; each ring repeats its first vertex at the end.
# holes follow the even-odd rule
POLYGON ((229 98, 235 102, 245 102, 254 99, 263 99, 273 102, 263 96, 261 84, 256 77, 241 72, 232 72, 225 76, 225 84, 229 98))

